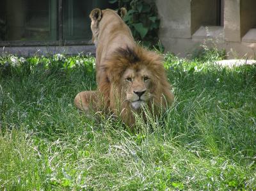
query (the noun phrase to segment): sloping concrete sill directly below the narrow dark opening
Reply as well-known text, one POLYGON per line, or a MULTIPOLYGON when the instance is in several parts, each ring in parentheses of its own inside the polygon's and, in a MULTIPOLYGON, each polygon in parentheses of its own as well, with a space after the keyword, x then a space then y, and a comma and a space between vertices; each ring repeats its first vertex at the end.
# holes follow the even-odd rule
POLYGON ((222 26, 201 26, 193 35, 192 40, 204 40, 206 38, 223 39, 222 26))

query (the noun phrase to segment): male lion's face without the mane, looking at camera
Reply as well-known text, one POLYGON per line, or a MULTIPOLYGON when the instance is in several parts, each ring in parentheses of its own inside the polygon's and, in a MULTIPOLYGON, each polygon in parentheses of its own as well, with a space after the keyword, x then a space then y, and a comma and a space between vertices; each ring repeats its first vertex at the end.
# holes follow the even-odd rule
POLYGON ((152 75, 146 66, 131 66, 125 70, 121 78, 122 86, 132 109, 140 109, 141 105, 152 99, 151 79, 152 75))

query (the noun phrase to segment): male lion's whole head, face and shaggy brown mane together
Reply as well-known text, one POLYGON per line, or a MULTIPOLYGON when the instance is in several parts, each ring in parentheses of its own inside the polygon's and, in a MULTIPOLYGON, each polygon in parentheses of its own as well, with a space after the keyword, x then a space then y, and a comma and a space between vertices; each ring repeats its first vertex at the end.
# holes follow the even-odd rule
POLYGON ((166 108, 173 102, 163 60, 155 52, 138 45, 120 48, 106 59, 102 68, 108 79, 99 88, 109 95, 111 110, 128 123, 133 123, 132 112, 141 112, 142 105, 154 108, 157 114, 159 107, 166 108))

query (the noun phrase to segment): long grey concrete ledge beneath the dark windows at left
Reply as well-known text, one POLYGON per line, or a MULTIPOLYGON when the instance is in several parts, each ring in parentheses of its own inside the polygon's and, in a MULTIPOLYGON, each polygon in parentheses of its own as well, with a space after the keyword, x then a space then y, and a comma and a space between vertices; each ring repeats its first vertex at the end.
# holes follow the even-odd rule
POLYGON ((0 47, 0 56, 3 54, 13 54, 16 56, 42 56, 49 54, 95 54, 94 45, 70 45, 70 46, 36 46, 36 47, 0 47))

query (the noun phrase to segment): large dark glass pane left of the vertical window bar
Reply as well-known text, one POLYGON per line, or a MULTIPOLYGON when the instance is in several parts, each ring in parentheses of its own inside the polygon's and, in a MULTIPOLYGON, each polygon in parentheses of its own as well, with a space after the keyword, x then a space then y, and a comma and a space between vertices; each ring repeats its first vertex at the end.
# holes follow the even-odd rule
POLYGON ((57 40, 57 0, 1 0, 0 41, 57 40))

